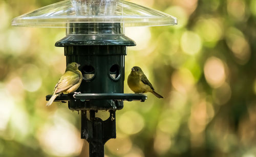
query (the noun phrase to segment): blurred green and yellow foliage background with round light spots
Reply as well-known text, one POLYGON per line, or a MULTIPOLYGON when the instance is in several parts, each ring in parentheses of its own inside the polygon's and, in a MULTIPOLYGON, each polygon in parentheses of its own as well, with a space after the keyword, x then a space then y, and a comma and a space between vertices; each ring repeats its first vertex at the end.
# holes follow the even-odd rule
MULTIPOLYGON (((87 156, 80 115, 45 96, 65 71, 65 29, 12 18, 57 0, 0 0, 0 156, 87 156)), ((125 78, 138 65, 164 99, 125 102, 106 156, 256 156, 256 0, 132 2, 177 26, 126 28, 125 78)), ((125 93, 132 93, 126 85, 125 93)))

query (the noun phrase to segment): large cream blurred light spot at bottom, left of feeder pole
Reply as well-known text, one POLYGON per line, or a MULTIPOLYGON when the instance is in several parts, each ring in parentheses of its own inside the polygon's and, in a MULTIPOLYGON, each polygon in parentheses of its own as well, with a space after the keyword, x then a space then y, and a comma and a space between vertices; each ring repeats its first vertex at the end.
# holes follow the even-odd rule
POLYGON ((75 156, 82 148, 80 132, 65 121, 43 126, 38 132, 38 139, 42 149, 56 156, 75 156))

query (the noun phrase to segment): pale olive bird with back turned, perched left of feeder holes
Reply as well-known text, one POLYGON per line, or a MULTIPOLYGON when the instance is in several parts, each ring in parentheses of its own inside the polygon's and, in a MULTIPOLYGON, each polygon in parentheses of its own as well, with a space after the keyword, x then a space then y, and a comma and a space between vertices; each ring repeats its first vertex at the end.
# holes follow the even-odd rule
POLYGON ((76 91, 82 82, 82 73, 78 70, 78 66, 80 66, 80 64, 76 62, 67 65, 65 73, 60 77, 54 88, 53 95, 46 106, 50 106, 61 93, 69 94, 76 91))

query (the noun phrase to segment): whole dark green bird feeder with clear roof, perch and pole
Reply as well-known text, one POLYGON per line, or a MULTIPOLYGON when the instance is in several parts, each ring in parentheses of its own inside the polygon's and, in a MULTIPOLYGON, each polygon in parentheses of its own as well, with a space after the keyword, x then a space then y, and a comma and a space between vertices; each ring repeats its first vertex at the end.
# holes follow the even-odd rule
MULTIPOLYGON (((125 27, 176 25, 177 19, 160 11, 122 0, 66 0, 13 19, 12 26, 66 28, 63 47, 67 64, 77 62, 83 80, 77 92, 55 101, 68 101, 69 109, 81 111, 81 138, 89 142, 90 156, 104 156, 104 144, 116 138, 116 110, 123 101, 145 101, 143 94, 124 94, 125 27), (107 110, 107 120, 95 116, 107 110)), ((51 95, 46 97, 49 100, 51 95)))

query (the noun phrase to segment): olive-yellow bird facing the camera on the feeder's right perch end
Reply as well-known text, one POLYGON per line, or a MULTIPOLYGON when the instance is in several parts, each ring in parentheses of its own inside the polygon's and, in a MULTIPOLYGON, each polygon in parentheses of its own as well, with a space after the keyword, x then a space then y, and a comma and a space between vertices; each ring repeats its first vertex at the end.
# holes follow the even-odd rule
POLYGON ((132 89, 134 93, 147 93, 151 92, 158 98, 163 98, 160 94, 156 93, 154 87, 148 81, 145 74, 139 68, 139 66, 134 66, 132 68, 131 74, 128 76, 127 80, 128 86, 132 89))

